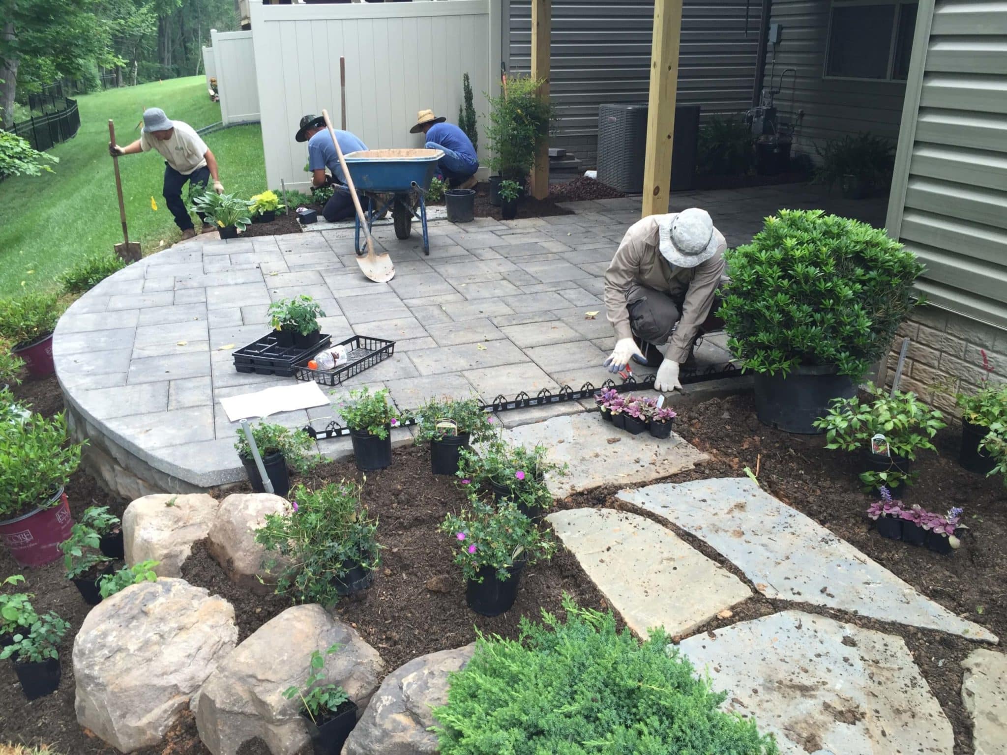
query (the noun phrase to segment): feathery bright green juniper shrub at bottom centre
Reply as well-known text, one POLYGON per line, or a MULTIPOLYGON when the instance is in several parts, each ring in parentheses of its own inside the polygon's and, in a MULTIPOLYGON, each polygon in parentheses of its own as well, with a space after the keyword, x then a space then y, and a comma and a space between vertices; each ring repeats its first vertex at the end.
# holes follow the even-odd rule
POLYGON ((641 643, 610 613, 564 608, 565 623, 523 617, 517 640, 479 635, 433 711, 441 755, 776 755, 663 629, 641 643))

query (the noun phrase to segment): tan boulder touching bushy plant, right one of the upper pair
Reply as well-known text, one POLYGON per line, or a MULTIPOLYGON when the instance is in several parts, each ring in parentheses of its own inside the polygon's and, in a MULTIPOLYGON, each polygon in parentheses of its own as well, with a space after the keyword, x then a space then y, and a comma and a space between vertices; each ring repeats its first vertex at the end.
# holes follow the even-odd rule
POLYGON ((207 548, 232 581, 258 593, 271 590, 259 581, 265 575, 265 548, 255 542, 255 531, 266 523, 266 514, 286 513, 290 504, 271 493, 235 493, 221 503, 209 527, 207 548))

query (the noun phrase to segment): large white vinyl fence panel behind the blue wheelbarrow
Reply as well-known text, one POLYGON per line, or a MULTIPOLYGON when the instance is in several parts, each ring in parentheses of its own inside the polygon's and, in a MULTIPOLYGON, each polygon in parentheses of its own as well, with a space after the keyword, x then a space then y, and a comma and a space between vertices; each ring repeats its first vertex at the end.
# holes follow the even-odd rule
MULTIPOLYGON (((346 128, 371 149, 422 147, 419 110, 456 122, 468 72, 486 113, 500 59, 500 0, 349 5, 263 5, 252 0, 262 140, 270 188, 310 185, 307 149, 294 141, 324 108, 339 128, 339 56, 346 58, 346 128)), ((222 98, 223 100, 223 98, 222 98)), ((480 132, 481 133, 481 132, 480 132)), ((479 151, 485 154, 483 139, 479 151)))

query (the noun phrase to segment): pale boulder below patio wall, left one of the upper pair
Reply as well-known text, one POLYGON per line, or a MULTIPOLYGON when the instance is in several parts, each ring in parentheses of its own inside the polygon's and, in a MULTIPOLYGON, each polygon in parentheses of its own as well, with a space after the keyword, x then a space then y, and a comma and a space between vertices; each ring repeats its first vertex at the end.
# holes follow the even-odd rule
POLYGON ((168 495, 157 493, 137 498, 123 514, 126 563, 161 562, 159 577, 181 577, 181 567, 192 552, 192 544, 209 533, 221 501, 206 493, 168 495))

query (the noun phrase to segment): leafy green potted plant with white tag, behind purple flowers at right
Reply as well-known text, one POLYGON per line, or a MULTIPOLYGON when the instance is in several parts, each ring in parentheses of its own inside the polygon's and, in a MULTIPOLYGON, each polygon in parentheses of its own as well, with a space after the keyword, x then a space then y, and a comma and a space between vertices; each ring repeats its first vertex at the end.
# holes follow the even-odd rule
POLYGON ((944 415, 930 409, 912 392, 895 391, 888 396, 870 389, 872 401, 836 399, 828 414, 815 421, 826 432, 826 448, 859 451, 867 468, 860 479, 867 489, 885 486, 901 498, 912 484, 910 462, 922 449, 936 451, 932 438, 947 427, 944 415))

